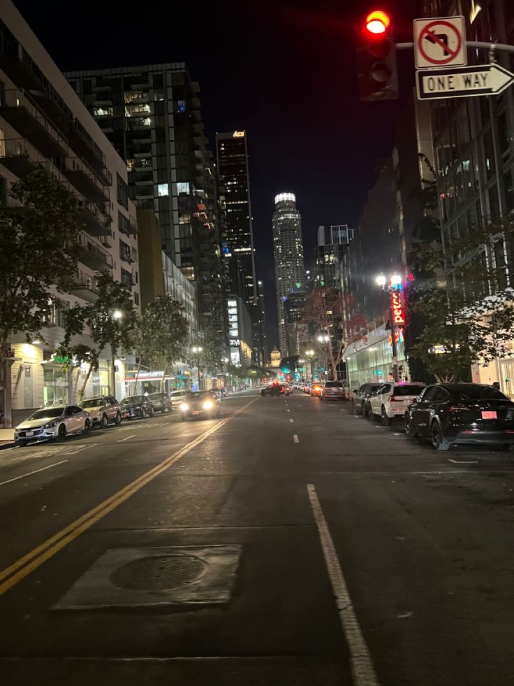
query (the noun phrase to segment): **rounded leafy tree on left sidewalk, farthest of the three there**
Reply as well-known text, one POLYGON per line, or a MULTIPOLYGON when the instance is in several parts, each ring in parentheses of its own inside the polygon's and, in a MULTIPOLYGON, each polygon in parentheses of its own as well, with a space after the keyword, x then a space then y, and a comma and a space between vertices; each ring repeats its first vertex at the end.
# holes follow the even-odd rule
MULTIPOLYGON (((162 385, 166 370, 182 357, 188 333, 184 306, 168 294, 158 295, 139 318, 135 350, 138 351, 140 360, 144 358, 150 366, 163 366, 162 385)), ((136 386, 140 366, 141 364, 135 378, 136 386)))

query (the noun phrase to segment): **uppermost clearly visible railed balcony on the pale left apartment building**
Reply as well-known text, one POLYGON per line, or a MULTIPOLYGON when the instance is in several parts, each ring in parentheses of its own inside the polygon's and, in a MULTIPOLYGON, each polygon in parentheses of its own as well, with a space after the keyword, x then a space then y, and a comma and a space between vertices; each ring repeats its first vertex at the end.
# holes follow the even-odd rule
POLYGON ((0 115, 46 157, 62 157, 68 141, 28 93, 11 89, 1 94, 0 115))

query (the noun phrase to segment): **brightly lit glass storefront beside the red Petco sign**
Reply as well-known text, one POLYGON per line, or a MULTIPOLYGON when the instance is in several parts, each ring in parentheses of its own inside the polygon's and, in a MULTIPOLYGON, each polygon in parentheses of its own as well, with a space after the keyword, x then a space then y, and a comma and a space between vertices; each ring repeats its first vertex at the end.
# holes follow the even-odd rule
MULTIPOLYGON (((404 339, 401 329, 395 330, 399 376, 407 380, 404 339)), ((388 381, 392 379, 392 338, 390 329, 382 324, 370 331, 344 351, 344 361, 351 388, 358 388, 367 381, 388 381)))

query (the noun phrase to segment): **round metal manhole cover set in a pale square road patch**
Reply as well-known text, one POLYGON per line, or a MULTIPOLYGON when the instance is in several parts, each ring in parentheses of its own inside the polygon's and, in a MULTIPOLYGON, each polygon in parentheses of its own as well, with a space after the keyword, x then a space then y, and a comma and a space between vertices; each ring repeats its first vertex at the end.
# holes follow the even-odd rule
POLYGON ((110 581, 118 588, 135 591, 166 591, 196 580, 205 568, 198 557, 159 555, 143 557, 118 567, 110 581))

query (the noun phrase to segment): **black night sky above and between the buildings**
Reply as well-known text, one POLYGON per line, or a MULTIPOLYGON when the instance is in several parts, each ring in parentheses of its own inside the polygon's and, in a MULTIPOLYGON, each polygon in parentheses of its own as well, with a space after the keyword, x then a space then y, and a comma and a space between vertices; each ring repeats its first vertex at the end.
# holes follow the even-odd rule
POLYGON ((360 103, 354 34, 367 10, 388 8, 397 41, 412 40, 417 0, 259 0, 129 3, 15 0, 62 71, 184 61, 215 131, 246 129, 258 277, 268 343, 278 343, 271 215, 278 192, 296 194, 310 266, 319 224, 358 224, 376 162, 392 150, 395 117, 413 81, 398 55, 401 97, 360 103), (146 8, 148 12, 145 13, 146 8))

